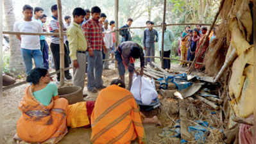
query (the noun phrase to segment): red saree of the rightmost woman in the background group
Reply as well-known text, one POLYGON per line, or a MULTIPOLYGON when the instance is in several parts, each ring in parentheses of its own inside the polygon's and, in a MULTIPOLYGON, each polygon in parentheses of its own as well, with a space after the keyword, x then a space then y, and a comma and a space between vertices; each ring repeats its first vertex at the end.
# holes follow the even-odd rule
MULTIPOLYGON (((203 44, 203 41, 205 40, 205 36, 206 35, 203 35, 200 38, 200 41, 199 41, 199 43, 198 43, 198 45, 196 47, 196 55, 198 54, 199 49, 200 49, 201 45, 203 44)), ((206 39, 205 45, 203 45, 202 50, 201 50, 198 58, 196 59, 196 62, 203 63, 203 59, 205 57, 205 51, 207 50, 208 46, 209 46, 209 38, 206 39)), ((196 68, 196 69, 200 69, 202 67, 203 67, 203 65, 200 65, 200 64, 197 64, 197 63, 194 65, 194 68, 196 68)))

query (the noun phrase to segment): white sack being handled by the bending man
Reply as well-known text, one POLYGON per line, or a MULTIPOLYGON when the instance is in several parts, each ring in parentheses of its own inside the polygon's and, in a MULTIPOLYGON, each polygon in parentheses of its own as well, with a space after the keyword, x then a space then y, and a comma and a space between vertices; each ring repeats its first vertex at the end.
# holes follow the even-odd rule
POLYGON ((151 104, 152 100, 157 98, 157 91, 155 90, 155 82, 146 77, 133 76, 133 83, 131 92, 136 100, 139 100, 144 105, 151 104), (141 93, 140 93, 141 89, 141 93))

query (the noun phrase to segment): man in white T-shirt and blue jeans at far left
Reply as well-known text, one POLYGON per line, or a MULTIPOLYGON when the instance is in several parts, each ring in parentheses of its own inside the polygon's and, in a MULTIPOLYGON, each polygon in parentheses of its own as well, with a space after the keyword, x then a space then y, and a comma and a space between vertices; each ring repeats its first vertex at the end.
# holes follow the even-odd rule
MULTIPOLYGON (((42 33, 42 26, 39 22, 32 20, 33 8, 30 5, 23 6, 24 20, 15 22, 14 31, 26 33, 42 33)), ((21 54, 26 66, 28 75, 32 69, 32 58, 35 61, 35 67, 44 67, 42 51, 40 50, 39 35, 16 35, 21 40, 21 54)))

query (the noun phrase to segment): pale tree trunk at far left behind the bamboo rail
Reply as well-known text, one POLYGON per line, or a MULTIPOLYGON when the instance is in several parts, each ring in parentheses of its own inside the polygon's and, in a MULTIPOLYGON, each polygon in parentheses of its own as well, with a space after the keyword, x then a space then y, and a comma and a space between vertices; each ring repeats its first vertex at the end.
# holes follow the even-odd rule
MULTIPOLYGON (((6 26, 8 31, 13 31, 15 23, 14 8, 12 6, 12 0, 4 0, 4 14, 6 20, 6 26)), ((24 62, 21 56, 21 42, 15 35, 9 35, 10 37, 10 70, 12 72, 24 72, 24 62)))

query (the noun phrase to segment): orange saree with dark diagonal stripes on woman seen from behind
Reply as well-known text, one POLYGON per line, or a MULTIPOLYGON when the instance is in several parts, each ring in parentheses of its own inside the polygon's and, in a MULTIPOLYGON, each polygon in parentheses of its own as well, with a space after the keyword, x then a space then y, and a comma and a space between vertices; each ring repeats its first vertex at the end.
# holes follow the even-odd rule
POLYGON ((117 85, 103 89, 92 111, 91 142, 128 144, 145 143, 139 108, 131 92, 117 85))

